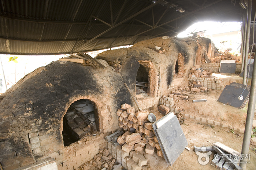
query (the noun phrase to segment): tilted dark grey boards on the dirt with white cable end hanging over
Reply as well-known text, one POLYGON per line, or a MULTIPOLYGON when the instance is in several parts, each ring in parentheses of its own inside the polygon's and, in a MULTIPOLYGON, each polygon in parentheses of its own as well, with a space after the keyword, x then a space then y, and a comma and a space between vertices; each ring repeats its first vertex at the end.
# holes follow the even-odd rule
POLYGON ((245 89, 243 93, 243 100, 238 100, 238 96, 241 95, 244 88, 239 88, 237 86, 226 85, 223 89, 222 93, 220 94, 218 101, 224 104, 231 105, 233 107, 242 109, 244 108, 245 104, 249 100, 249 93, 250 90, 245 89))

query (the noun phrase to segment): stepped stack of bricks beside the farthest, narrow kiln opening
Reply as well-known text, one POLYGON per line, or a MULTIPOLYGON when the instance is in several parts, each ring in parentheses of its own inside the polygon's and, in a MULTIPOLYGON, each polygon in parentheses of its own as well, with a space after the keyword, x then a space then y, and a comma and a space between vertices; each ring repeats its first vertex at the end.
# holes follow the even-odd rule
POLYGON ((192 82, 191 91, 200 92, 200 90, 215 89, 215 90, 223 90, 224 85, 219 78, 216 76, 208 75, 211 73, 207 73, 201 69, 192 68, 188 71, 188 80, 192 82))

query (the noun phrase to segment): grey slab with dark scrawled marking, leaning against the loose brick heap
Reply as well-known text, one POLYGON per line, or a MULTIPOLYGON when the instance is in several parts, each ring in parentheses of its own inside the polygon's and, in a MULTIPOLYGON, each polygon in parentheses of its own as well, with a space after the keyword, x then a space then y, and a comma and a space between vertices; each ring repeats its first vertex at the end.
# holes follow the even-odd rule
POLYGON ((183 150, 188 146, 181 125, 174 113, 168 113, 162 119, 153 123, 161 150, 167 163, 172 165, 183 150))

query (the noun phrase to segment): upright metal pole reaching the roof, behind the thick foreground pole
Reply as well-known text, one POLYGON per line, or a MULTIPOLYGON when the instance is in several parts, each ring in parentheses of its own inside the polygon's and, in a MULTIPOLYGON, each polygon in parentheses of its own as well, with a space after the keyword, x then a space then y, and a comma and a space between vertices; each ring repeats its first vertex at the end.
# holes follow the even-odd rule
POLYGON ((248 1, 248 10, 247 10, 243 84, 246 84, 246 76, 247 76, 247 60, 248 60, 248 53, 249 53, 249 35, 250 35, 250 28, 251 28, 251 15, 252 15, 252 0, 249 0, 248 1))

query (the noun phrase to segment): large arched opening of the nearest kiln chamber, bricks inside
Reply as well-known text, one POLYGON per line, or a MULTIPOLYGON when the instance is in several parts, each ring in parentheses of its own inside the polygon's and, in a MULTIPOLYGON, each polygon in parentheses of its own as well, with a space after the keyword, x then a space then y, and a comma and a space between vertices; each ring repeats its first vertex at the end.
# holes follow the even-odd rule
POLYGON ((99 131, 99 114, 94 102, 88 99, 75 101, 63 117, 63 143, 69 146, 93 131, 99 131))

